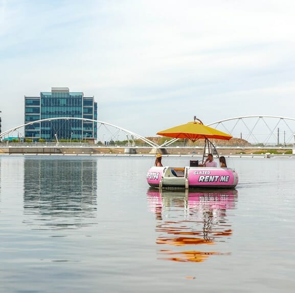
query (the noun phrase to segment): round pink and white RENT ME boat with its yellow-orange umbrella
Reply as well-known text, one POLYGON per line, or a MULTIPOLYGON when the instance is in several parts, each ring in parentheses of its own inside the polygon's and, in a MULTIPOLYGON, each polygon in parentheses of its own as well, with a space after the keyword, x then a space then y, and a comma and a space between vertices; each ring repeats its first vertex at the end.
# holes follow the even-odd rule
MULTIPOLYGON (((230 134, 203 125, 202 121, 196 116, 194 116, 194 121, 157 132, 157 134, 172 137, 170 143, 179 138, 189 139, 193 142, 198 139, 205 139, 202 162, 204 162, 206 151, 209 154, 214 149, 218 154, 209 138, 223 140, 232 138, 230 134)), ((160 147, 163 147, 163 145, 160 147)), ((194 161, 191 161, 190 166, 186 167, 151 167, 147 173, 147 182, 150 186, 160 189, 164 187, 184 187, 186 189, 193 187, 234 188, 238 184, 238 174, 232 168, 203 167, 198 162, 196 165, 191 164, 192 162, 194 161)))

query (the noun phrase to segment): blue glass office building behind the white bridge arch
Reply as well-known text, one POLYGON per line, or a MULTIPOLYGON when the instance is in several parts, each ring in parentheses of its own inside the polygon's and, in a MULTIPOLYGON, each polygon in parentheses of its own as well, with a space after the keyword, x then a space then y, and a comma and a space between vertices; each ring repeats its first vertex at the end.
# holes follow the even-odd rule
POLYGON ((33 123, 46 118, 83 118, 97 120, 94 97, 83 92, 70 92, 69 88, 53 87, 40 96, 25 96, 25 138, 37 141, 56 139, 95 140, 97 123, 80 119, 54 119, 33 123))

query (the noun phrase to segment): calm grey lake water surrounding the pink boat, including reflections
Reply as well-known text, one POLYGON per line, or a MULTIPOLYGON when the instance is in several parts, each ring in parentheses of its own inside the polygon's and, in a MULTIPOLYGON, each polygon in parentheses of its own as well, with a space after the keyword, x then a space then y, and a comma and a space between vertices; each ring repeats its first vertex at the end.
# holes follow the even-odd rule
POLYGON ((190 192, 149 189, 153 162, 0 156, 0 292, 295 291, 295 159, 190 192))

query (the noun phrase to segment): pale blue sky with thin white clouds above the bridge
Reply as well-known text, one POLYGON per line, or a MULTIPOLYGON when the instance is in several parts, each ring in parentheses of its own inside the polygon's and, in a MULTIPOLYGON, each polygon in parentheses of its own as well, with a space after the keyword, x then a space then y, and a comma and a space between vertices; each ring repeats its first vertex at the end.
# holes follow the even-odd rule
POLYGON ((293 0, 0 0, 2 131, 51 87, 142 136, 194 115, 294 118, 294 13, 293 0))

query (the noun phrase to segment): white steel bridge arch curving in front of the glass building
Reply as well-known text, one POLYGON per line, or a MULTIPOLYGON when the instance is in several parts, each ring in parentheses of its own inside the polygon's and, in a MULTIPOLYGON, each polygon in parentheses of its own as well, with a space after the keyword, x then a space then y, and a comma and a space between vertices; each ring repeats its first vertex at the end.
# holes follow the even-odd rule
POLYGON ((110 124, 110 123, 107 123, 107 122, 104 122, 104 121, 99 121, 99 120, 94 120, 94 119, 88 119, 88 118, 77 118, 77 117, 55 117, 55 118, 46 118, 46 119, 39 119, 39 120, 36 120, 36 121, 31 121, 29 123, 26 123, 26 124, 22 124, 22 125, 19 125, 17 127, 14 127, 14 128, 11 128, 7 131, 4 131, 2 133, 0 133, 0 138, 2 138, 3 136, 13 132, 13 131, 16 131, 17 129, 19 128, 22 128, 22 127, 25 127, 27 125, 32 125, 32 124, 35 124, 35 123, 40 123, 40 122, 43 122, 43 121, 51 121, 51 120, 58 120, 58 119, 64 119, 64 120, 83 120, 83 121, 90 121, 90 122, 95 122, 95 123, 99 123, 101 125, 107 125, 107 126, 110 126, 110 127, 114 127, 116 129, 119 129, 121 131, 124 131, 130 135, 133 135, 141 140, 143 140, 144 142, 146 142, 147 144, 149 144, 152 148, 158 148, 158 145, 156 143, 154 143, 153 141, 141 136, 140 134, 137 134, 135 132, 132 132, 132 131, 129 131, 127 129, 124 129, 122 127, 119 127, 119 126, 116 126, 114 124, 110 124))

